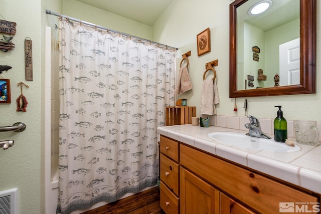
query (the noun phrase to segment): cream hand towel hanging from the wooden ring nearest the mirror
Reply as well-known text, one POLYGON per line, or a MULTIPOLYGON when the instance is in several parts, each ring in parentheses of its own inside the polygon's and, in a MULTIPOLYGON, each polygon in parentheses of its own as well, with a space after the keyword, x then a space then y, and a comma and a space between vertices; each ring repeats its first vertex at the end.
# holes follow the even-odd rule
POLYGON ((219 103, 219 94, 216 82, 213 79, 206 79, 203 81, 201 94, 201 114, 215 115, 215 105, 219 103))

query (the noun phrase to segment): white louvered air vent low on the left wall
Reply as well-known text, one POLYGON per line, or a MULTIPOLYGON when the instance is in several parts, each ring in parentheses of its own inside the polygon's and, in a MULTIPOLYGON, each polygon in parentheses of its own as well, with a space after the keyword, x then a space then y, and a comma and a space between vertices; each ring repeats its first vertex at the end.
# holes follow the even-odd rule
POLYGON ((17 188, 0 192, 0 214, 18 214, 17 188))

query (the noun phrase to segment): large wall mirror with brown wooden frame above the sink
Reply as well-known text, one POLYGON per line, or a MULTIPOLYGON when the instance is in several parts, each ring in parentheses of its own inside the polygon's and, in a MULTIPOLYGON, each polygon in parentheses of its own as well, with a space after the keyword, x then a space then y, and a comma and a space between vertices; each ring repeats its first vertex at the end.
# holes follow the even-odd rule
MULTIPOLYGON (((281 19, 277 17, 278 14, 283 17, 284 14, 287 14, 287 12, 280 14, 277 11, 278 9, 276 9, 277 4, 273 6, 273 2, 284 1, 264 0, 264 2, 273 3, 270 7, 271 12, 264 12, 263 18, 253 16, 250 17, 251 20, 248 20, 246 17, 249 16, 243 13, 248 13, 249 8, 257 2, 262 2, 262 0, 236 0, 230 5, 230 98, 315 93, 315 0, 287 0, 287 2, 291 2, 294 5, 282 6, 283 8, 287 7, 287 12, 295 11, 294 8, 297 8, 296 11, 299 13, 299 15, 292 15, 291 18, 284 21, 285 24, 278 24, 277 26, 279 29, 281 25, 286 25, 287 28, 295 23, 299 25, 294 27, 294 30, 290 30, 290 37, 292 38, 289 38, 291 41, 295 37, 298 38, 299 49, 296 54, 293 54, 293 56, 296 55, 296 58, 298 58, 298 64, 297 69, 292 69, 296 71, 293 74, 291 74, 289 69, 281 67, 281 72, 279 69, 279 65, 283 63, 281 61, 282 58, 287 58, 284 57, 284 52, 281 52, 279 48, 279 45, 284 43, 284 41, 278 41, 279 44, 277 45, 274 44, 275 49, 279 48, 279 50, 267 50, 272 47, 268 43, 268 38, 273 38, 275 41, 284 36, 284 33, 282 35, 270 36, 270 33, 275 30, 271 27, 274 21, 268 18, 269 13, 276 18, 274 20, 281 19), (289 10, 288 7, 291 9, 289 10), (262 20, 264 20, 264 24, 260 23, 262 20), (252 25, 256 26, 252 27, 252 25), (260 28, 260 26, 266 29, 247 32, 248 28, 256 29, 260 28), (263 35, 264 39, 258 39, 256 37, 258 34, 263 35), (269 61, 270 59, 266 57, 268 55, 276 58, 275 61, 269 61), (278 56, 275 57, 276 55, 278 56), (265 81, 264 78, 258 77, 259 73, 262 75, 262 72, 265 79, 269 80, 270 85, 267 84, 268 81, 263 82, 265 81), (282 83, 280 81, 280 86, 274 86, 277 85, 274 82, 274 77, 276 74, 280 76, 282 72, 285 72, 288 76, 286 78, 283 78, 283 76, 279 78, 282 79, 282 83), (293 79, 294 76, 297 79, 294 79, 292 82, 291 80, 286 80, 286 83, 284 83, 283 80, 291 79, 291 75, 293 79), (254 82, 254 84, 250 85, 249 82, 254 82)), ((289 30, 281 30, 279 32, 286 31, 288 32, 289 30)))

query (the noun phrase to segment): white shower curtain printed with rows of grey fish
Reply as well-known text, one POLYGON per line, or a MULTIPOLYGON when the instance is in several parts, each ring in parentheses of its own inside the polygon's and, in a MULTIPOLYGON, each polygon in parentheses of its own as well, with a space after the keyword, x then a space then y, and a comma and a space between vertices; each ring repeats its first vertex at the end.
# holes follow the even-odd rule
POLYGON ((60 18, 59 205, 70 213, 156 184, 175 49, 60 18))

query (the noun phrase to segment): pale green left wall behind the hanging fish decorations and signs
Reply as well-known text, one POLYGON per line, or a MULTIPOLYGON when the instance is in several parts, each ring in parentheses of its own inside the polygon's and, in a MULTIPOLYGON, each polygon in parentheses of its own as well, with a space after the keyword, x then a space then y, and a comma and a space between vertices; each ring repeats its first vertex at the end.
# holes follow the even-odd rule
MULTIPOLYGON (((11 103, 0 104, 3 112, 0 126, 24 122, 24 132, 2 132, 0 140, 14 140, 13 147, 0 149, 0 191, 18 188, 19 213, 45 213, 44 190, 44 26, 47 25, 47 7, 61 10, 61 1, 30 0, 5 1, 0 8, 0 19, 17 23, 12 51, 0 51, 0 65, 13 68, 1 76, 11 81, 11 103), (25 80, 25 38, 33 41, 33 81, 25 80), (21 94, 19 82, 26 83, 23 94, 28 100, 27 112, 17 112, 16 99, 21 94)), ((7 35, 8 36, 8 35, 7 35)), ((2 34, 0 34, 2 38, 2 34)))

